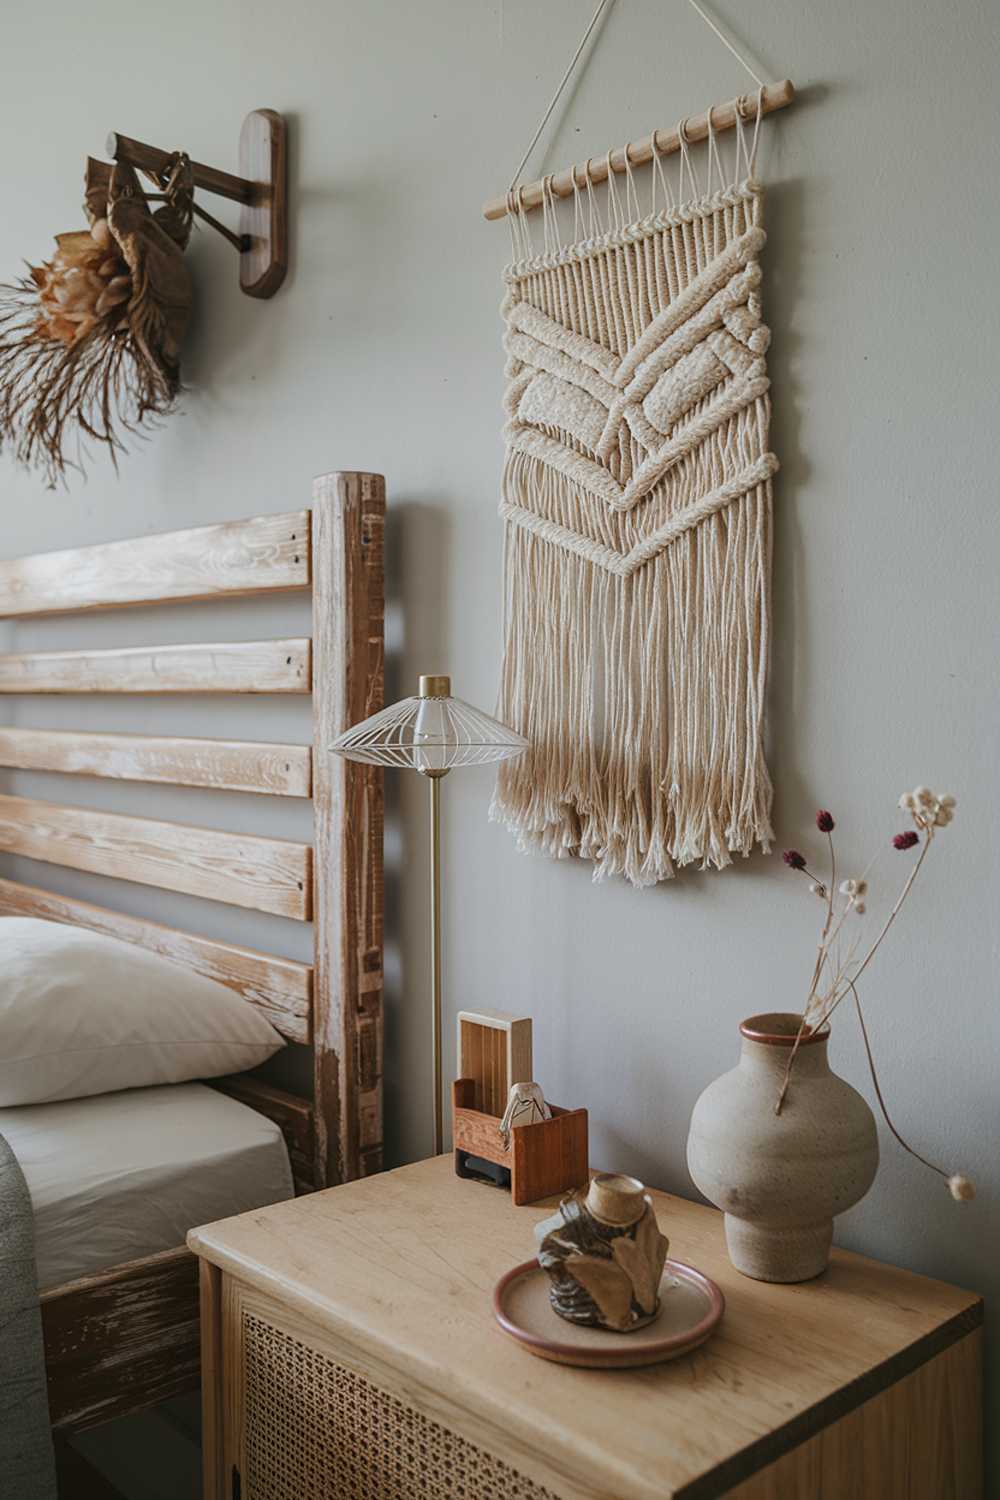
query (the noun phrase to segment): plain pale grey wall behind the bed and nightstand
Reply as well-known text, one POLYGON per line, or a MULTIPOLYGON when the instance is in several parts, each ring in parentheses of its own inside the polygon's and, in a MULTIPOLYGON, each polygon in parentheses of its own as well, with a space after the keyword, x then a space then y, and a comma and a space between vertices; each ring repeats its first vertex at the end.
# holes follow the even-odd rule
MULTIPOLYGON (((831 807, 849 864, 894 826, 904 788, 960 800, 865 984, 882 1078, 913 1143, 979 1182, 954 1204, 886 1137, 843 1244, 1000 1296, 997 1240, 997 26, 993 4, 877 0, 717 6, 801 105, 765 126, 766 310, 774 327, 775 650, 769 747, 778 844, 831 807)), ((499 648, 502 190, 591 14, 589 0, 286 0, 282 6, 42 3, 4 16, 0 267, 76 225, 87 152, 109 129, 235 165, 243 114, 292 122, 292 272, 240 296, 208 231, 192 261, 190 390, 121 465, 69 494, 3 472, 4 555, 300 506, 312 474, 373 468, 391 496, 388 690, 451 670, 490 706, 499 648)), ((559 166, 744 87, 676 0, 619 0, 558 116, 559 166)), ((225 210, 222 210, 225 212, 225 210)), ((298 603, 37 622, 19 645, 220 639, 303 626, 298 603), (238 621, 238 624, 235 622, 238 621)), ((39 702, 21 722, 304 732, 303 705, 39 702)), ((306 831, 303 808, 15 777, 73 801, 219 826, 306 831)), ((550 1096, 591 1108, 594 1160, 691 1192, 691 1104, 736 1054, 741 1017, 795 1006, 814 908, 777 858, 651 892, 520 856, 486 820, 486 771, 447 806, 447 1070, 463 1005, 535 1018, 550 1096)), ((429 1146, 424 788, 394 789, 387 1125, 429 1146)), ((900 866, 874 876, 885 902, 900 866)), ((40 870, 31 872, 42 874, 40 870)), ((52 885, 304 952, 279 920, 48 874, 52 885)), ((834 1062, 870 1094, 856 1026, 834 1062)))

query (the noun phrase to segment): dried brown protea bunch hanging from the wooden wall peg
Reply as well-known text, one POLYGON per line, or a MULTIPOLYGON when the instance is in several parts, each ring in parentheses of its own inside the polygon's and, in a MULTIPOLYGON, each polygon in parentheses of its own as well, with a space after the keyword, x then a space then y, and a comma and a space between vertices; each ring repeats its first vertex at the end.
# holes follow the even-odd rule
POLYGON ((177 399, 192 303, 183 153, 159 186, 165 202, 153 213, 130 166, 90 159, 90 228, 57 236, 51 261, 0 286, 0 448, 49 484, 81 468, 87 438, 114 460, 126 434, 177 399))

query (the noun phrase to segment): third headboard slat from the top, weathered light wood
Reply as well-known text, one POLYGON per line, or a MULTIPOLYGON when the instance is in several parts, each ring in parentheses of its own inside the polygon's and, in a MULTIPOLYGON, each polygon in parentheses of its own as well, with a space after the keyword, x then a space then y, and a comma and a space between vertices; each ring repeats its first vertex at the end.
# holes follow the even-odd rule
POLYGON ((0 765, 21 771, 63 771, 70 776, 210 786, 274 796, 309 796, 312 790, 309 746, 241 740, 181 740, 0 726, 0 765))

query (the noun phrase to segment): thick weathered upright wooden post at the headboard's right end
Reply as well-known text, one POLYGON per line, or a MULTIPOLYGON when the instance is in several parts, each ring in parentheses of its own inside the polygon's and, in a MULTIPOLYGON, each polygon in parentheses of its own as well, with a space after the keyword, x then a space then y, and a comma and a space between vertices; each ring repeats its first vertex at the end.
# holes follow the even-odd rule
POLYGON ((382 706, 381 474, 321 474, 312 507, 316 1186, 382 1166, 382 772, 328 753, 382 706))

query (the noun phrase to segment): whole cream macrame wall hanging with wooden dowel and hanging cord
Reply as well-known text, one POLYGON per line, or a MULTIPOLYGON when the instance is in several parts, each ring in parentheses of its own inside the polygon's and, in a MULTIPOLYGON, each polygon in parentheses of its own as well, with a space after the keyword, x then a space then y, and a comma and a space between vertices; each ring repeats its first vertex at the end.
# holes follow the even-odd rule
POLYGON ((636 886, 691 862, 721 868, 771 838, 762 736, 778 464, 754 166, 760 118, 793 88, 753 76, 756 96, 484 208, 507 216, 514 254, 498 717, 531 744, 501 766, 492 816, 523 848, 583 856, 595 879, 636 886), (730 128, 726 171, 717 135, 730 128), (688 150, 699 140, 706 183, 688 150), (643 162, 646 212, 633 176, 643 162), (570 244, 556 196, 574 200, 570 244))

